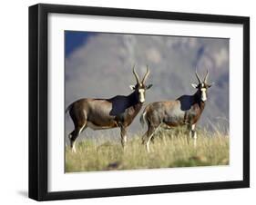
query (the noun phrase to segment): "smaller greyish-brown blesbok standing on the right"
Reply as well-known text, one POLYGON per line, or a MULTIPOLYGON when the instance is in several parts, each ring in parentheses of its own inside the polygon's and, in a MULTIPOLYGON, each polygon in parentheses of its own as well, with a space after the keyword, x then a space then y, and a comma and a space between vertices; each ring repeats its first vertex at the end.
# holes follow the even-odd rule
POLYGON ((177 100, 166 102, 152 102, 144 109, 140 123, 147 122, 148 131, 142 137, 142 143, 146 143, 147 151, 149 151, 149 142, 159 127, 171 129, 173 127, 187 125, 189 128, 189 138, 194 139, 196 146, 197 132, 195 130, 196 123, 200 119, 203 112, 205 102, 207 100, 207 89, 211 84, 207 83, 209 72, 200 80, 200 76, 196 71, 198 84, 192 83, 192 87, 197 89, 193 95, 182 95, 177 100))

